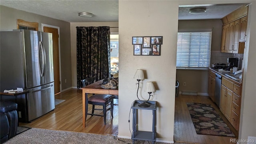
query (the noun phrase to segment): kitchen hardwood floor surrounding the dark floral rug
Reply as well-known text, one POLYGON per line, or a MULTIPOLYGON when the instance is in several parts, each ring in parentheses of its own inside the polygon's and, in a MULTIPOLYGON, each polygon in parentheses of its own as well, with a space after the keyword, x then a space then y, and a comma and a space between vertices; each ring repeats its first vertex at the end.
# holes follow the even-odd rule
POLYGON ((174 114, 174 141, 195 142, 202 144, 230 144, 231 138, 238 138, 238 133, 231 126, 230 122, 220 112, 218 106, 212 102, 208 96, 185 96, 180 95, 175 99, 175 114, 174 114), (220 117, 230 127, 236 137, 226 136, 211 136, 196 134, 194 124, 190 117, 186 102, 198 102, 211 104, 214 109, 220 114, 220 117))

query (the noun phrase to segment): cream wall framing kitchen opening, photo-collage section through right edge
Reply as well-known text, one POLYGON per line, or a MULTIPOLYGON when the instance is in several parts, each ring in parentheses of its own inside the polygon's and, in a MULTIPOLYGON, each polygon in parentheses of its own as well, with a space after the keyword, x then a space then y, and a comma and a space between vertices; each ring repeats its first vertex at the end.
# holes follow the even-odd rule
MULTIPOLYGON (((252 2, 254 7, 249 14, 249 18, 254 28, 249 28, 250 54, 248 54, 248 66, 245 75, 254 78, 244 78, 246 88, 242 99, 246 103, 242 111, 242 128, 239 138, 246 139, 247 136, 254 136, 255 113, 249 113, 250 108, 255 109, 255 25, 256 10, 255 1, 238 0, 236 3, 252 2), (252 53, 251 53, 252 52, 252 53), (247 123, 248 122, 248 123, 247 123)), ((234 1, 214 1, 214 0, 182 0, 182 1, 119 1, 119 125, 118 136, 130 137, 128 116, 130 105, 136 98, 136 80, 133 79, 136 69, 146 71, 146 79, 142 81, 142 94, 147 81, 154 81, 158 90, 154 92, 153 100, 158 102, 157 110, 157 141, 173 142, 174 138, 174 100, 175 100, 175 75, 176 75, 176 43, 178 31, 178 5, 189 4, 230 4, 234 1), (163 36, 161 56, 133 56, 132 36, 163 36)), ((152 112, 142 111, 140 113, 139 129, 151 130, 152 112), (143 117, 143 118, 142 118, 143 117), (143 122, 143 123, 142 123, 143 122)), ((130 118, 132 119, 132 118, 130 118)), ((130 123, 131 126, 132 123, 130 123)))

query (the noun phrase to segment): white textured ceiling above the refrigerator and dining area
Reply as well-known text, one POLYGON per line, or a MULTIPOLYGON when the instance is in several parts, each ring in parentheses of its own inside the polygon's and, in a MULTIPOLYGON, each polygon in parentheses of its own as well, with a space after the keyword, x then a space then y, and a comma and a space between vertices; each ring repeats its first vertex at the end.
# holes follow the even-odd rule
POLYGON ((0 0, 0 5, 66 22, 118 21, 118 0, 0 0), (80 12, 94 16, 83 18, 80 12))

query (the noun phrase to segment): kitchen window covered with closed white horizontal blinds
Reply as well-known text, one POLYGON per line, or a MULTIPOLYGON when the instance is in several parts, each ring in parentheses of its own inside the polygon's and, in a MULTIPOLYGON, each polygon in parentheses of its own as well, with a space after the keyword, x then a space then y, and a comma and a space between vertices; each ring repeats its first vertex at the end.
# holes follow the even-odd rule
POLYGON ((210 65, 212 30, 179 30, 176 67, 205 68, 210 65))

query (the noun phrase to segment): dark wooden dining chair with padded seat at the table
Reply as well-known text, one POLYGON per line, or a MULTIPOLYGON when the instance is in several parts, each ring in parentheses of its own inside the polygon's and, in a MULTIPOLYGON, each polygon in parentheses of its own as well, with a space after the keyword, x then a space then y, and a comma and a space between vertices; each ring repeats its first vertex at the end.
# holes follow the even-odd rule
MULTIPOLYGON (((86 78, 84 80, 81 80, 83 87, 87 86, 89 84, 92 84, 94 81, 92 79, 92 77, 90 78, 86 78)), ((87 117, 88 113, 88 104, 92 104, 92 113, 89 115, 92 116, 103 116, 104 117, 104 125, 106 125, 106 112, 108 110, 110 110, 111 112, 111 116, 113 118, 113 108, 114 108, 114 101, 113 101, 113 96, 110 94, 93 94, 92 96, 90 96, 88 98, 88 94, 86 93, 85 95, 86 97, 86 112, 85 112, 85 119, 87 117), (103 108, 102 109, 98 109, 95 108, 95 105, 100 105, 103 108), (107 109, 107 106, 110 105, 110 108, 107 109), (99 114, 94 114, 94 110, 103 110, 103 115, 99 115, 99 114)))

